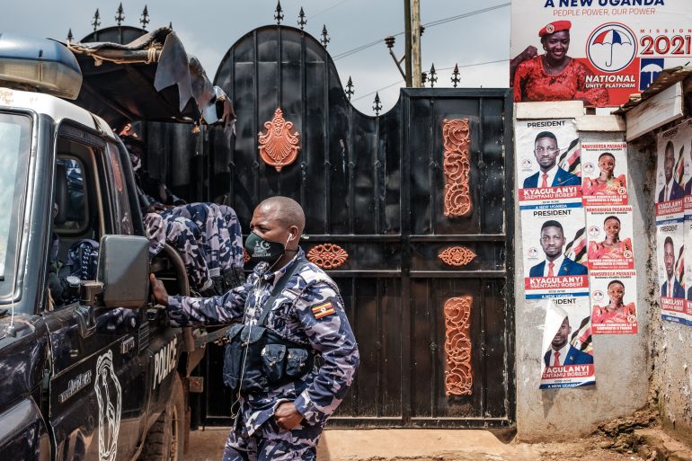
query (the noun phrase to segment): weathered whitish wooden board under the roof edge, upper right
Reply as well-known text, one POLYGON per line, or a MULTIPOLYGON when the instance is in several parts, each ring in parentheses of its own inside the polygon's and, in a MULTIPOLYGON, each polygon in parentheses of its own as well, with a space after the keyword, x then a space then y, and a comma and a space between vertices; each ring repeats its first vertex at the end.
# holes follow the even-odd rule
POLYGON ((625 139, 627 141, 636 139, 684 115, 682 84, 677 83, 625 113, 627 121, 625 139))

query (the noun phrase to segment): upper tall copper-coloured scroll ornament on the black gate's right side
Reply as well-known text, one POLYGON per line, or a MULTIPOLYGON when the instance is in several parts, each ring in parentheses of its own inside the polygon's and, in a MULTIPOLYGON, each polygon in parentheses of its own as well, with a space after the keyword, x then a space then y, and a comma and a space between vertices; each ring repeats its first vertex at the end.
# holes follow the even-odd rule
POLYGON ((471 171, 468 154, 468 147, 471 144, 469 132, 468 119, 443 120, 444 212, 448 217, 468 216, 473 208, 468 187, 468 173, 471 171))

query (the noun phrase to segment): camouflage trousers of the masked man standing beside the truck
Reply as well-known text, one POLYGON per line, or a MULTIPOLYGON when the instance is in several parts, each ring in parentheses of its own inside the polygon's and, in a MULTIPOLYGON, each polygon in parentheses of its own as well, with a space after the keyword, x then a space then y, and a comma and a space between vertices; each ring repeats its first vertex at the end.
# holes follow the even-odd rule
POLYGON ((270 418, 260 430, 248 435, 243 416, 235 418, 235 427, 228 434, 222 461, 315 461, 321 426, 299 425, 283 430, 270 418))

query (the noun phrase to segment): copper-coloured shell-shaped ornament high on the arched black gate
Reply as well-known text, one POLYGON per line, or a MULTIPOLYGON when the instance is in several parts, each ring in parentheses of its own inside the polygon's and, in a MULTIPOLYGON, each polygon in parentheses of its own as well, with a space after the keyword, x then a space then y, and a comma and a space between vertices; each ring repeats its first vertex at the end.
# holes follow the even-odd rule
POLYGON ((271 164, 277 172, 296 161, 298 156, 298 132, 291 134, 293 123, 283 118, 281 108, 274 112, 271 121, 264 122, 266 133, 260 131, 260 156, 265 164, 271 164))

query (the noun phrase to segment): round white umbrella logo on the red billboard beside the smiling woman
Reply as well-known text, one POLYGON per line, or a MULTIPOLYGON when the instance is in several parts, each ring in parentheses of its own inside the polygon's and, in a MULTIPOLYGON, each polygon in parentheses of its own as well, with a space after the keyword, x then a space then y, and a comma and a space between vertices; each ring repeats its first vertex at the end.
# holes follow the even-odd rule
POLYGON ((618 72, 629 66, 636 55, 634 32, 617 22, 600 25, 591 32, 587 55, 593 66, 603 72, 618 72))

